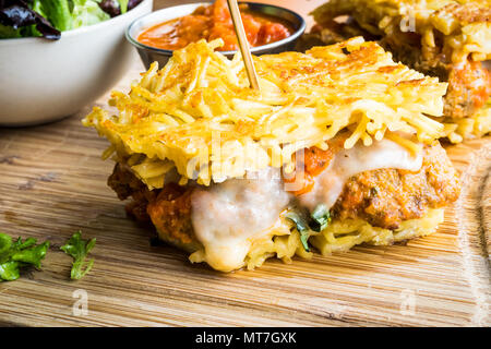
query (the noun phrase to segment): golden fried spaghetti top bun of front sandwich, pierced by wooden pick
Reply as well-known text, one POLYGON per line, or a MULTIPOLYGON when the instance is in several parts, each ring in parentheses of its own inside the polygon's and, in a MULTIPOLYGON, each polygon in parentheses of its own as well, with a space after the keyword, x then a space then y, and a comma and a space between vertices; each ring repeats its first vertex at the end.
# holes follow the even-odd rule
POLYGON ((297 151, 326 148, 346 130, 346 148, 391 132, 422 143, 443 135, 429 116, 442 115, 446 84, 395 63, 375 43, 359 37, 255 57, 260 93, 249 88, 239 56, 214 51, 219 44, 191 44, 161 70, 154 63, 129 94, 112 93, 118 115, 94 108, 84 119, 111 142, 106 157, 116 152, 151 189, 173 168, 181 184, 209 185, 288 166, 297 151))

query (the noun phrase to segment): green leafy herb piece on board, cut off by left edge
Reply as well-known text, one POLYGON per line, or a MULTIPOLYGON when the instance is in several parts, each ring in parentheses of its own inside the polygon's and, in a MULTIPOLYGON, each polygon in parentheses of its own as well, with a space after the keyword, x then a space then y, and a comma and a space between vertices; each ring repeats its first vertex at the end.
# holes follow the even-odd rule
POLYGON ((34 265, 40 268, 40 261, 49 248, 49 241, 36 245, 37 240, 19 238, 12 241, 7 233, 0 232, 0 281, 12 281, 20 277, 21 268, 34 265))

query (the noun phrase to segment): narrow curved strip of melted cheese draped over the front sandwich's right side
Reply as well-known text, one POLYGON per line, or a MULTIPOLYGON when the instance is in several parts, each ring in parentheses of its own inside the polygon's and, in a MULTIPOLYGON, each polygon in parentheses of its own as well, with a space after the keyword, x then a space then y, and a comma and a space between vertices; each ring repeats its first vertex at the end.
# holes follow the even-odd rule
POLYGON ((312 191, 300 195, 302 206, 313 210, 319 204, 331 208, 339 197, 346 181, 358 173, 381 168, 417 171, 422 165, 422 152, 417 156, 390 140, 374 142, 370 146, 357 143, 350 149, 342 149, 330 166, 314 179, 312 191))

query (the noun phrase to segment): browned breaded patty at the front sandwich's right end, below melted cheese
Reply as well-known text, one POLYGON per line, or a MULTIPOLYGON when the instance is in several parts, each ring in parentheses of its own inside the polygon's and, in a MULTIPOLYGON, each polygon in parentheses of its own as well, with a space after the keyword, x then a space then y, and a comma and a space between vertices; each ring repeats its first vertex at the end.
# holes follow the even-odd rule
POLYGON ((417 172, 379 169, 351 177, 334 205, 334 217, 362 218, 372 226, 396 229, 403 220, 423 217, 429 208, 457 200, 457 173, 442 146, 424 148, 417 172))

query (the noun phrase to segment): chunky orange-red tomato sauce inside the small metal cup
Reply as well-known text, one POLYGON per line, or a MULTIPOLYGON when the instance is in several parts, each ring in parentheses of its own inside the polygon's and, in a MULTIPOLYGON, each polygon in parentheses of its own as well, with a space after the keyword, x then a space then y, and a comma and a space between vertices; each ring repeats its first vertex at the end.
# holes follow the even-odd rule
MULTIPOLYGON (((252 47, 279 41, 294 31, 279 19, 253 13, 247 4, 240 4, 243 26, 252 47)), ((226 0, 216 0, 207 7, 197 8, 192 14, 156 24, 142 32, 137 40, 144 45, 176 50, 200 39, 224 40, 223 51, 237 50, 236 32, 226 0)))

